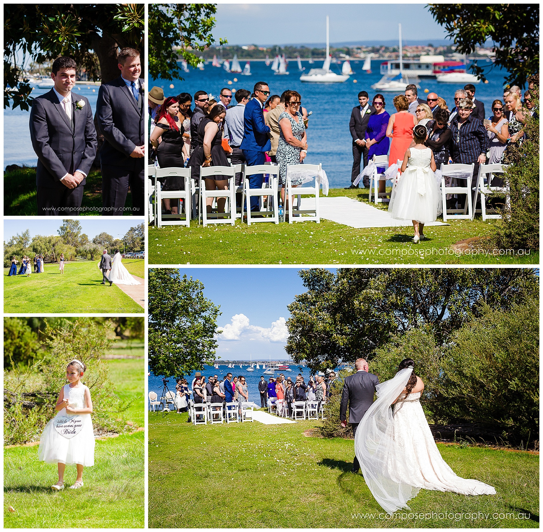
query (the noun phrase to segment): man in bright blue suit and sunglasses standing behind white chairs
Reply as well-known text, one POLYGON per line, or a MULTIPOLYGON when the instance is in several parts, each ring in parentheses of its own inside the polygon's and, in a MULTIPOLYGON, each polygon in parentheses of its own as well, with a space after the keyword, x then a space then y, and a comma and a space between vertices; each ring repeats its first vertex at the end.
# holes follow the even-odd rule
MULTIPOLYGON (((266 162, 264 152, 271 149, 269 139, 270 128, 264 122, 264 103, 270 93, 270 87, 265 82, 258 82, 253 89, 255 97, 245 105, 243 114, 243 140, 239 146, 248 166, 263 165, 266 162)), ((260 189, 264 174, 249 176, 249 188, 260 189)), ((251 197, 251 211, 258 210, 258 197, 251 197)))

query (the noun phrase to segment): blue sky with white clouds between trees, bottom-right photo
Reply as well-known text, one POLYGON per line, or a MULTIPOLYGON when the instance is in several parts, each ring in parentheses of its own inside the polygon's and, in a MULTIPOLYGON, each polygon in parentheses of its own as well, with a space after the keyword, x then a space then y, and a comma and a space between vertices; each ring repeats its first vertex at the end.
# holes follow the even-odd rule
MULTIPOLYGON (((181 268, 199 279, 204 296, 220 305, 217 355, 222 360, 288 359, 287 305, 305 292, 296 268, 181 268)), ((332 270, 335 272, 335 270, 332 270)))

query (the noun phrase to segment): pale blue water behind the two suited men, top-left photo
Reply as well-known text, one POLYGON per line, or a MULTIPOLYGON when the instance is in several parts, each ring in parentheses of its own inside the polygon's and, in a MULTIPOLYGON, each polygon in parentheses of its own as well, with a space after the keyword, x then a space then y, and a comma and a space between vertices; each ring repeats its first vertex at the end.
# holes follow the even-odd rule
MULTIPOLYGON (((96 112, 96 102, 98 99, 98 85, 76 85, 73 95, 85 96, 91 104, 92 114, 96 112)), ((41 96, 50 89, 39 89, 35 86, 31 96, 41 96)), ((36 166, 37 155, 34 153, 30 141, 30 110, 23 111, 17 109, 4 109, 4 170, 8 165, 27 165, 36 166)))

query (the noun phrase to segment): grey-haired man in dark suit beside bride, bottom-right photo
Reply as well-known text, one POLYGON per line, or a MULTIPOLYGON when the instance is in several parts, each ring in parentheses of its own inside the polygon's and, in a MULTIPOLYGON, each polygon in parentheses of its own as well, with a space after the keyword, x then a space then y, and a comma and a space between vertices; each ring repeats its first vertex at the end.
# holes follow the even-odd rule
MULTIPOLYGON (((358 424, 362 421, 364 414, 374 402, 374 394, 379 379, 377 375, 368 373, 368 362, 359 358, 355 362, 356 373, 345 377, 343 381, 343 392, 341 404, 339 406, 339 419, 342 427, 347 426, 347 405, 349 405, 349 423, 351 424, 352 434, 356 436, 358 424)), ((360 464, 358 458, 352 462, 352 472, 358 473, 360 464)))

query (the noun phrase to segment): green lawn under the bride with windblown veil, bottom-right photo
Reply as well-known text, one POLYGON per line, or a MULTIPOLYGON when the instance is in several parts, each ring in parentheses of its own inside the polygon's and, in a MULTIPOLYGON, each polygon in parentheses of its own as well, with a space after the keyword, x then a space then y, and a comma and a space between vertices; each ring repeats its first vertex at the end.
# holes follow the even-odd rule
POLYGON ((236 528, 539 528, 533 454, 438 444, 458 475, 495 486, 496 495, 421 490, 412 512, 449 515, 385 519, 362 475, 350 472, 353 441, 304 436, 317 422, 194 427, 186 419, 149 415, 149 528, 213 528, 217 519, 236 528), (465 517, 479 511, 488 518, 465 517))

